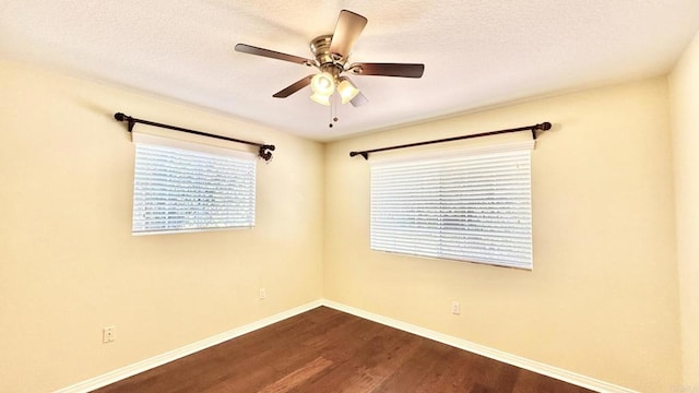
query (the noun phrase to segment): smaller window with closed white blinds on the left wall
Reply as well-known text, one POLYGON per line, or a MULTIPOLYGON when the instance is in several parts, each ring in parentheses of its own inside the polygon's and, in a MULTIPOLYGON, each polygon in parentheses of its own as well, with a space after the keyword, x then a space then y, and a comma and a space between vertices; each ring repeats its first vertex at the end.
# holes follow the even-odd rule
POLYGON ((133 235, 254 226, 256 157, 133 134, 133 235))

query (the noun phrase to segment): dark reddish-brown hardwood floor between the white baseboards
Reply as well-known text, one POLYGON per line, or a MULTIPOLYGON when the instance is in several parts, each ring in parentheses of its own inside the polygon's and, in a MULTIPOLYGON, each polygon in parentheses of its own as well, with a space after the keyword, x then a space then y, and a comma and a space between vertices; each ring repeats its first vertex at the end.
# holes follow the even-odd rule
POLYGON ((319 307, 95 392, 590 391, 319 307))

